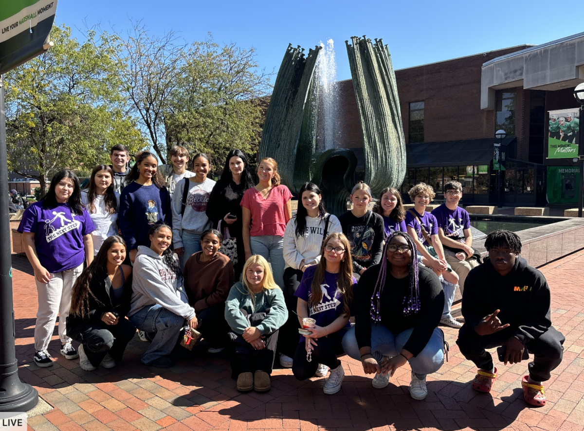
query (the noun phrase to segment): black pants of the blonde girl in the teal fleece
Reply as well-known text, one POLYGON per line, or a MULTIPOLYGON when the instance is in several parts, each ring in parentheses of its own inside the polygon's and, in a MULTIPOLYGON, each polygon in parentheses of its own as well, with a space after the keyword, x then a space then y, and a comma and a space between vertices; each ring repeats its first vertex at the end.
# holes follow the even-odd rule
MULTIPOLYGON (((231 332, 233 334, 233 332, 231 332)), ((278 331, 266 335, 263 338, 266 347, 256 350, 241 335, 232 339, 231 343, 231 377, 237 379, 241 373, 255 373, 265 371, 272 374, 274 359, 276 358, 276 345, 278 344, 278 331)))

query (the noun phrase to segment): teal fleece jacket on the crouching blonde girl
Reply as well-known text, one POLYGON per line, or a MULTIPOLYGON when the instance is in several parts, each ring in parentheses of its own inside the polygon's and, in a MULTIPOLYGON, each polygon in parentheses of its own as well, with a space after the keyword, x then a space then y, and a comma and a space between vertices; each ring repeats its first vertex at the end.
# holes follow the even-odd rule
POLYGON ((231 287, 225 301, 225 320, 233 332, 242 335, 249 323, 241 310, 245 310, 249 315, 264 313, 267 309, 270 309, 269 313, 257 327, 262 335, 279 330, 288 320, 284 294, 280 288, 262 289, 262 292, 252 297, 244 284, 237 282, 231 287))

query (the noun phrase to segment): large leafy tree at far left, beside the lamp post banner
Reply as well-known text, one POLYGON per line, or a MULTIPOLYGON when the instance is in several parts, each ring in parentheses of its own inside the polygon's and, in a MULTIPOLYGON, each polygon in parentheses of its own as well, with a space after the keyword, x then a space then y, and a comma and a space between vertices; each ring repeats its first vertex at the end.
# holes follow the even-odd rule
POLYGON ((6 75, 10 167, 39 180, 43 195, 59 169, 92 169, 108 161, 116 143, 131 151, 145 146, 120 96, 116 37, 90 30, 79 43, 62 25, 51 40, 53 48, 6 75))

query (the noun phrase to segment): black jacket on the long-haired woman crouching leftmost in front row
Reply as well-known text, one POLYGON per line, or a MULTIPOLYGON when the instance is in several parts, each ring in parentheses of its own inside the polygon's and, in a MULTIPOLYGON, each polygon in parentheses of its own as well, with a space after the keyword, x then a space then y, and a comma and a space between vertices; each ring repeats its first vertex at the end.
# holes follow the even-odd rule
POLYGON ((130 311, 130 300, 132 298, 132 274, 124 282, 124 292, 117 300, 113 300, 113 288, 109 291, 106 289, 107 274, 105 271, 99 271, 93 276, 89 289, 93 296, 89 295, 89 313, 84 318, 80 316, 69 315, 67 323, 78 324, 82 321, 91 323, 102 323, 103 313, 117 313, 120 318, 126 317, 130 311))

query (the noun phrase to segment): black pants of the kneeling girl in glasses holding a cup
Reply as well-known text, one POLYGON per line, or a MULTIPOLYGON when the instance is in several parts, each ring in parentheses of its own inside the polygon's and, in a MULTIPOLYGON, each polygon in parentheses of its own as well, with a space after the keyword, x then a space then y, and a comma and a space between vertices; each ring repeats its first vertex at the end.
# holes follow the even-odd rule
MULTIPOLYGON (((345 331, 343 331, 345 332, 345 331)), ((343 353, 343 346, 340 344, 342 337, 339 332, 329 334, 327 337, 319 338, 317 346, 313 346, 312 360, 306 360, 305 343, 298 343, 296 353, 294 354, 294 362, 292 365, 292 372, 294 377, 298 380, 310 379, 317 372, 318 364, 324 364, 331 370, 340 365, 340 360, 336 355, 343 353)))

